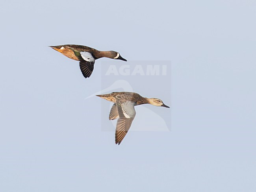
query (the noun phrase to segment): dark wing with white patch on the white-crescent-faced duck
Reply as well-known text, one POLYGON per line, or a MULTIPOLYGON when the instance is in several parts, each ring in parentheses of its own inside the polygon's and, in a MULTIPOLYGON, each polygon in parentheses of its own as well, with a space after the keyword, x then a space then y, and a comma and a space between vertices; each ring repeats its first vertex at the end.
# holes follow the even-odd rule
POLYGON ((74 51, 74 54, 78 58, 80 70, 85 78, 89 78, 93 72, 95 59, 90 52, 78 52, 74 51))

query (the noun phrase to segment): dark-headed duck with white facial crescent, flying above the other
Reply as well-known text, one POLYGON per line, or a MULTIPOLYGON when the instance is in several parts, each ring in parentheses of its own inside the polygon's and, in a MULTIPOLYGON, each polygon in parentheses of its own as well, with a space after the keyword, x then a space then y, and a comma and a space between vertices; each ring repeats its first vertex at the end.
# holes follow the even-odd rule
POLYGON ((66 57, 69 57, 70 59, 79 61, 80 69, 85 78, 89 78, 91 76, 96 59, 108 57, 111 59, 127 61, 126 59, 122 58, 118 52, 98 51, 94 48, 83 45, 58 45, 50 47, 65 55, 66 57))

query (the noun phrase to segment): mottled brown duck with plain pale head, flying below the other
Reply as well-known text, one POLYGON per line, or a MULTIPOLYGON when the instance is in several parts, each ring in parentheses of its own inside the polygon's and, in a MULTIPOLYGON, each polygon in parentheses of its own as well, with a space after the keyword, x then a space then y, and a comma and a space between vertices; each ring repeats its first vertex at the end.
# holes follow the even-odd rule
POLYGON ((155 106, 170 108, 163 104, 160 99, 145 98, 134 92, 113 92, 97 96, 114 103, 110 110, 109 120, 119 118, 115 130, 115 144, 120 144, 130 129, 132 121, 136 115, 134 106, 148 103, 155 106))

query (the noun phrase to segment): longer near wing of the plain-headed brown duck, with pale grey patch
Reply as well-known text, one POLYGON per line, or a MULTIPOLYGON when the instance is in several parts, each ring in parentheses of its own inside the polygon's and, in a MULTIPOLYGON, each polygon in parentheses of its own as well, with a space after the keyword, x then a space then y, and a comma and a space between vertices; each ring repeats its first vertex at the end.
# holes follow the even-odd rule
POLYGON ((120 145, 132 125, 136 111, 134 109, 135 102, 123 100, 122 98, 119 98, 119 96, 116 96, 115 98, 119 114, 115 130, 115 143, 120 145))

